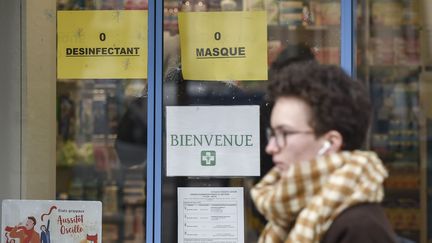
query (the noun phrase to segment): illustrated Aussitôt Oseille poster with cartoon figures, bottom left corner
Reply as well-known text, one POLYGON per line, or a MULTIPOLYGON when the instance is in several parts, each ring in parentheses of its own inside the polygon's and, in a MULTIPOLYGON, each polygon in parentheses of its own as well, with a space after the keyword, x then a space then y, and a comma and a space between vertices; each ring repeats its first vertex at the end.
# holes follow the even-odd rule
POLYGON ((3 200, 1 242, 102 242, 102 203, 3 200))

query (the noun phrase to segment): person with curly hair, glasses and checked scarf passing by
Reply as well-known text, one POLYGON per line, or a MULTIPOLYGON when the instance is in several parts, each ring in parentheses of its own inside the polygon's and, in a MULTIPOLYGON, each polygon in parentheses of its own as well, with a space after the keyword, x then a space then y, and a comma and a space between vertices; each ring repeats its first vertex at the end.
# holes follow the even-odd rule
POLYGON ((380 202, 387 171, 360 150, 371 119, 364 85, 315 61, 273 67, 266 152, 251 190, 268 223, 259 242, 396 242, 380 202))

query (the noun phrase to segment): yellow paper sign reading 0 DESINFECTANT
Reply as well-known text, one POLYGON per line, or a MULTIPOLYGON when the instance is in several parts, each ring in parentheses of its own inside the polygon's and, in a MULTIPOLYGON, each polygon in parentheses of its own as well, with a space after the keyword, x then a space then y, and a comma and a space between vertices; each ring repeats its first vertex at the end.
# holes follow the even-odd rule
POLYGON ((147 78, 147 11, 58 11, 59 79, 147 78))

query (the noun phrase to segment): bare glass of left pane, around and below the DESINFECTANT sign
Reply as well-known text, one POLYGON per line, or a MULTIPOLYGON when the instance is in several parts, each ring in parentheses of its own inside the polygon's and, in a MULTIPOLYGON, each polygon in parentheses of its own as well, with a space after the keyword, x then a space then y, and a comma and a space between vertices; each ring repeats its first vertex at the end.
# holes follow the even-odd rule
MULTIPOLYGON (((58 0, 57 10, 147 9, 147 0, 58 0)), ((58 199, 98 200, 103 242, 144 242, 147 80, 57 80, 58 199)))

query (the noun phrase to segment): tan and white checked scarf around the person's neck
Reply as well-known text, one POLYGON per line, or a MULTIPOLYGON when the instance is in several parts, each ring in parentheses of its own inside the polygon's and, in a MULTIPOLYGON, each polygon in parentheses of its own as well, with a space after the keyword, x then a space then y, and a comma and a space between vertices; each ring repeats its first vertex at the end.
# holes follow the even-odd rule
POLYGON ((268 223, 260 243, 316 243, 346 208, 381 202, 387 171, 373 152, 343 151, 272 169, 251 190, 268 223))

